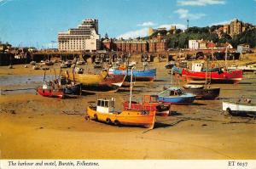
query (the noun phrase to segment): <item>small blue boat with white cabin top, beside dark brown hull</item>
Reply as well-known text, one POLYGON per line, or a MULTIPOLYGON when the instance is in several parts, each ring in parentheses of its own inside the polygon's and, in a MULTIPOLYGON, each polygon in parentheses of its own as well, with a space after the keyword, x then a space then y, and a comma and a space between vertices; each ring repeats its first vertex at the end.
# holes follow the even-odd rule
POLYGON ((195 95, 183 93, 179 87, 170 87, 158 93, 158 101, 168 104, 191 104, 195 100, 195 95))

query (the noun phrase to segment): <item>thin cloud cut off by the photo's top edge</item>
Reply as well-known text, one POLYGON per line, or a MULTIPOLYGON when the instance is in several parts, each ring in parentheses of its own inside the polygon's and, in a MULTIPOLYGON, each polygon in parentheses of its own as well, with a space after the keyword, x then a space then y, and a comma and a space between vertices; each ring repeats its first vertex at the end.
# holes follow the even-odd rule
MULTIPOLYGON (((254 0, 255 1, 255 0, 254 0)), ((224 0, 178 0, 177 5, 180 6, 207 6, 207 5, 217 5, 225 4, 224 0)))

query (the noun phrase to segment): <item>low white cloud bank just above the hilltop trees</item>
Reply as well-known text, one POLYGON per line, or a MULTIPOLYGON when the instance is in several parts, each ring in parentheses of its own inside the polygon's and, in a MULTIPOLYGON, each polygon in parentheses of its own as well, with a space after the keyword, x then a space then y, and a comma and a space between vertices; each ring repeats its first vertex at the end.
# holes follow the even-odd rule
MULTIPOLYGON (((160 28, 160 27, 166 27, 167 30, 171 28, 172 25, 176 25, 177 29, 186 29, 186 25, 182 24, 163 24, 163 25, 157 25, 154 26, 154 29, 160 28)), ((124 39, 129 39, 129 38, 136 38, 136 37, 147 37, 148 36, 148 28, 143 28, 135 31, 127 31, 126 33, 119 35, 118 38, 124 38, 124 39)))

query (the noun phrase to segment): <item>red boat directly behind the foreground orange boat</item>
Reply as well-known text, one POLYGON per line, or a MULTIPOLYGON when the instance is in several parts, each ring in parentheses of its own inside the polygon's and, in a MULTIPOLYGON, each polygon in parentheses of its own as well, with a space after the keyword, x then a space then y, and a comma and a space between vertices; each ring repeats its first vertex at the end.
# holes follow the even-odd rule
POLYGON ((131 101, 131 107, 129 108, 129 102, 123 103, 125 110, 148 110, 155 111, 155 115, 167 116, 171 110, 171 104, 163 104, 158 102, 157 95, 146 95, 143 98, 142 103, 131 101))

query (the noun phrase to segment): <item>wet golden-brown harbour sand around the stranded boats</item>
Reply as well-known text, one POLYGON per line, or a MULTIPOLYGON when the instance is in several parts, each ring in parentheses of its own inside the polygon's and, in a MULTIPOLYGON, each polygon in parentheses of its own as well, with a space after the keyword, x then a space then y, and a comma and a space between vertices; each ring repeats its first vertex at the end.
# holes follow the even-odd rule
MULTIPOLYGON (((170 84, 165 64, 154 63, 156 82, 136 83, 134 100, 143 94, 158 93, 170 84)), ((37 87, 41 82, 32 80, 38 75, 44 75, 44 71, 23 65, 15 65, 13 70, 3 66, 0 87, 2 90, 37 87), (13 76, 24 79, 12 85, 7 77, 13 76), (27 80, 28 76, 31 80, 27 80)), ((77 99, 44 98, 32 90, 2 91, 1 159, 255 159, 256 121, 252 117, 224 114, 222 101, 241 95, 256 99, 256 75, 245 74, 238 85, 213 85, 217 86, 221 87, 219 99, 172 105, 172 115, 157 116, 153 130, 84 121, 89 102, 115 97, 121 109, 121 103, 129 99, 128 89, 82 95, 77 99)))

